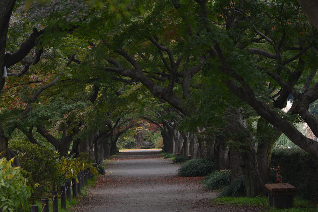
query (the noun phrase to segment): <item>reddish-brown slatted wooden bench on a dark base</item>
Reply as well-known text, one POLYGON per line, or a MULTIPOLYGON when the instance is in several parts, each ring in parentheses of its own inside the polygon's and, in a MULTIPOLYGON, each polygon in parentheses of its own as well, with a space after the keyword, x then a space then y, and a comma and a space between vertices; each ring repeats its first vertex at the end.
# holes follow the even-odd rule
POLYGON ((268 205, 274 208, 292 208, 296 187, 289 183, 266 183, 268 205))

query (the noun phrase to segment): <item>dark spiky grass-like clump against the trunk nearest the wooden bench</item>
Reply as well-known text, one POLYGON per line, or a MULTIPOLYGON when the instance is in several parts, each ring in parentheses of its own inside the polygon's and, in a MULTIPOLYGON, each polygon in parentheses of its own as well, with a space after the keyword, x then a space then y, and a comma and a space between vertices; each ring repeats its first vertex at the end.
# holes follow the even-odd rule
POLYGON ((246 188, 245 188, 244 176, 241 175, 235 178, 230 185, 225 186, 222 189, 221 193, 218 194, 218 198, 226 197, 226 196, 238 197, 238 196, 245 196, 245 195, 246 195, 246 188))

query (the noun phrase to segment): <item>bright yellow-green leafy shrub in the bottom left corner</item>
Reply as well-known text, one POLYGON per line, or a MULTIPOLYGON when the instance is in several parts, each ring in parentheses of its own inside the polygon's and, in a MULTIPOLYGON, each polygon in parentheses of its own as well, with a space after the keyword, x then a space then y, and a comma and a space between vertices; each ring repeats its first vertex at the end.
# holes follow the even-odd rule
POLYGON ((28 210, 31 188, 20 173, 19 167, 12 167, 13 159, 0 161, 0 211, 28 210))

